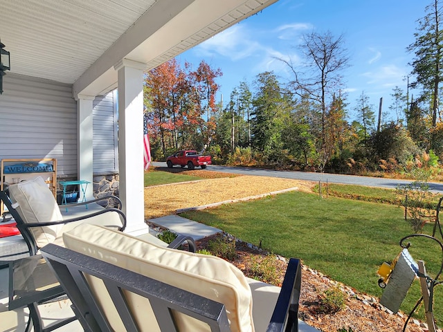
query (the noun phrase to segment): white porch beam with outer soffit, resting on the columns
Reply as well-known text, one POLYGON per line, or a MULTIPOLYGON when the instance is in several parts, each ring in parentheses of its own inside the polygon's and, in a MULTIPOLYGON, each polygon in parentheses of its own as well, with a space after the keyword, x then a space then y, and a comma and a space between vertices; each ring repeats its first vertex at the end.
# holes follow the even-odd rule
POLYGON ((74 97, 116 88, 113 66, 121 59, 144 63, 149 70, 276 1, 157 1, 73 84, 74 97))

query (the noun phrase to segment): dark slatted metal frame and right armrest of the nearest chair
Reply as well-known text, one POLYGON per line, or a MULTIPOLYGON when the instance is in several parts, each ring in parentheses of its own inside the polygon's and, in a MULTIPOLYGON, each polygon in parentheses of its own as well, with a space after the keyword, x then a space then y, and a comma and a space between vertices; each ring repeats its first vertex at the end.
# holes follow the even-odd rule
MULTIPOLYGON (((177 313, 206 323, 209 326, 208 331, 230 331, 226 307, 222 303, 53 244, 48 244, 41 252, 71 299, 73 311, 84 331, 115 330, 100 305, 104 301, 114 303, 116 315, 123 322, 125 331, 152 331, 152 321, 136 322, 134 319, 134 310, 137 308, 129 305, 128 293, 149 299, 160 331, 201 331, 189 327, 179 330, 177 313), (105 288, 98 291, 91 286, 87 276, 100 279, 105 288), (104 293, 107 293, 106 296, 104 293)), ((269 308, 273 314, 266 332, 298 331, 300 283, 300 261, 290 259, 275 308, 269 308)), ((138 310, 146 311, 147 308, 138 310)))

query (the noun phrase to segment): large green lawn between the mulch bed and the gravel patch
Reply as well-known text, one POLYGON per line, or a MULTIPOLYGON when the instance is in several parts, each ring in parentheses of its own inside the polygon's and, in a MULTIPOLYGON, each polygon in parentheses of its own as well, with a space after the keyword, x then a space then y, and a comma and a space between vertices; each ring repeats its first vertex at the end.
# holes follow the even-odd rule
MULTIPOLYGON (((365 189, 366 190, 366 189, 365 189)), ((222 205, 186 212, 186 218, 220 228, 235 237, 284 257, 297 257, 325 275, 358 291, 381 297, 377 270, 399 252, 399 240, 412 234, 396 205, 291 192, 257 201, 222 205)), ((424 232, 431 234, 431 225, 424 232)), ((437 244, 413 239, 415 259, 426 262, 429 275, 440 269, 442 251, 437 244)), ((435 288, 434 313, 443 325, 443 288, 435 288)), ((409 313, 419 299, 418 282, 408 293, 401 310, 409 313)), ((423 310, 419 315, 424 317, 423 310)))

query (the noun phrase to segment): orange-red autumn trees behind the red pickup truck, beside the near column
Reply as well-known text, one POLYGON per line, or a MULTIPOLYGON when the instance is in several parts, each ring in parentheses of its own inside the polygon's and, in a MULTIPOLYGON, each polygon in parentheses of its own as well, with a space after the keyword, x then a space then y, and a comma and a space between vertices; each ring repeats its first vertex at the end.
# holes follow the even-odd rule
POLYGON ((197 71, 190 68, 171 59, 145 74, 144 105, 154 158, 171 149, 201 149, 215 131, 215 77, 221 71, 206 62, 197 71))

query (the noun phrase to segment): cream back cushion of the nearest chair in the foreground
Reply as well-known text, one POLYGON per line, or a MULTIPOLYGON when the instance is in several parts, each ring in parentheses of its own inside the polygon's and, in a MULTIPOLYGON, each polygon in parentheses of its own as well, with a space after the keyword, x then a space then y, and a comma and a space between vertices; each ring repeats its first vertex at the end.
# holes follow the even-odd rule
MULTIPOLYGON (((63 234, 66 248, 152 277, 166 284, 213 299, 226 306, 231 331, 255 331, 252 295, 243 273, 223 259, 156 246, 122 232, 84 223, 63 234)), ((89 282, 115 331, 124 331, 116 308, 96 278, 89 282), (105 295, 106 294, 106 295, 105 295), (107 297, 107 298, 105 298, 107 297)), ((147 299, 128 295, 141 331, 159 331, 147 299), (150 322, 147 324, 147 322, 150 322)), ((181 331, 209 331, 205 323, 175 313, 181 331)))

